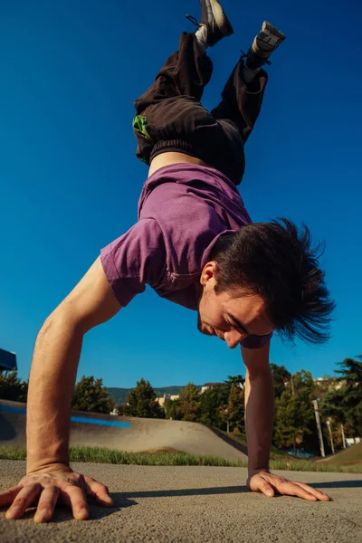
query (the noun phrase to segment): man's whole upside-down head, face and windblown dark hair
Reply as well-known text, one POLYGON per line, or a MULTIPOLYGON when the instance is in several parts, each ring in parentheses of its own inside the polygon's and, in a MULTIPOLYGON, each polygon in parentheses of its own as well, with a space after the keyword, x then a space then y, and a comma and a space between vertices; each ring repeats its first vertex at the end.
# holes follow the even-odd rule
POLYGON ((286 219, 221 236, 200 279, 198 329, 236 347, 248 334, 278 330, 310 343, 329 338, 329 299, 320 246, 286 219))

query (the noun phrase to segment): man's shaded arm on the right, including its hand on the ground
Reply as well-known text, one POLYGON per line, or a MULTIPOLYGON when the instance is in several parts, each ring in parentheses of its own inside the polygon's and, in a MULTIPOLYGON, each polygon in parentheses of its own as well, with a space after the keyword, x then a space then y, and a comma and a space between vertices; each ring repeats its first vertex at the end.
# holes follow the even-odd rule
POLYGON ((246 366, 245 428, 248 443, 248 481, 251 491, 272 497, 276 493, 304 500, 328 501, 329 496, 302 482, 288 481, 269 472, 274 421, 274 387, 269 365, 270 342, 262 348, 242 347, 246 366))

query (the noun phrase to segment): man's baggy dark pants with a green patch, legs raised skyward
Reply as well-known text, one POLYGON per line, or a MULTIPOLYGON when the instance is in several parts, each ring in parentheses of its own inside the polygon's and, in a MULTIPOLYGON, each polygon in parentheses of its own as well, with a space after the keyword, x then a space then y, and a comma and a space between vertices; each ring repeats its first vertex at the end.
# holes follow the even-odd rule
POLYGON ((178 151, 204 160, 228 176, 235 185, 243 178, 243 146, 258 118, 267 74, 260 71, 246 85, 239 61, 212 111, 200 103, 210 81, 213 62, 201 52, 195 34, 183 33, 155 82, 135 101, 133 122, 138 139, 137 157, 147 164, 167 151, 178 151))

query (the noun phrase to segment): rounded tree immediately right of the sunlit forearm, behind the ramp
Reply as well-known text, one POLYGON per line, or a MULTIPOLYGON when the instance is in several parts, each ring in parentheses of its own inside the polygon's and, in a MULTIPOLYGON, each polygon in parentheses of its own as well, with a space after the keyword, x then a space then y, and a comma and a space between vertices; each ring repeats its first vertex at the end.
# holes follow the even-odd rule
POLYGON ((74 387, 71 408, 77 411, 110 414, 114 405, 107 388, 102 383, 103 379, 82 376, 81 381, 74 387))

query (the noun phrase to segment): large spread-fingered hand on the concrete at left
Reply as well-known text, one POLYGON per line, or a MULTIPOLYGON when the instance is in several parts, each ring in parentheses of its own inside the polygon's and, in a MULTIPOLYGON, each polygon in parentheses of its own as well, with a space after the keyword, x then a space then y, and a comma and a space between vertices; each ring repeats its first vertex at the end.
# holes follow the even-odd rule
POLYGON ((90 511, 87 496, 94 498, 100 505, 112 507, 108 488, 91 477, 71 470, 67 465, 54 466, 39 472, 28 473, 18 485, 0 492, 0 507, 10 505, 6 519, 20 519, 25 510, 39 499, 35 512, 35 522, 47 522, 57 503, 68 505, 74 519, 88 519, 90 511))

